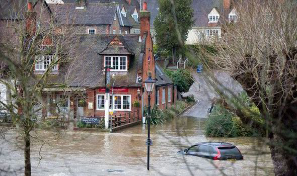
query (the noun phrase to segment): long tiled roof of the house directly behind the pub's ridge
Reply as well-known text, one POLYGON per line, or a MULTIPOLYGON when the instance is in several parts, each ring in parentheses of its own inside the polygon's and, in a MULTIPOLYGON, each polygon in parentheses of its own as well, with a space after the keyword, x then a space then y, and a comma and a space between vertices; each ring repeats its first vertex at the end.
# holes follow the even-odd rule
POLYGON ((49 4, 61 24, 111 25, 117 4, 89 3, 84 9, 76 9, 76 3, 49 4))

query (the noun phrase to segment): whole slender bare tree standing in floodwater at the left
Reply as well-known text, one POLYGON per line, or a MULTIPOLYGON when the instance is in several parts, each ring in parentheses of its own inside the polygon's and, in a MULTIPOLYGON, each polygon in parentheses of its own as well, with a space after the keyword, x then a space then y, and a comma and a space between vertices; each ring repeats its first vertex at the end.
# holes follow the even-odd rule
MULTIPOLYGON (((8 1, 2 14, 0 31, 0 83, 11 92, 7 102, 0 104, 11 114, 24 139, 25 175, 31 175, 30 132, 38 127, 36 113, 47 110, 59 116, 56 107, 45 101, 45 89, 64 89, 69 78, 76 42, 74 27, 59 25, 54 10, 40 1, 33 10, 27 1, 8 1), (11 3, 11 4, 10 4, 11 3), (39 69, 39 70, 38 70, 39 69), (36 108, 37 107, 37 108, 36 108)), ((77 28, 76 28, 77 29, 77 28)), ((38 139, 42 140, 42 139, 38 139)))

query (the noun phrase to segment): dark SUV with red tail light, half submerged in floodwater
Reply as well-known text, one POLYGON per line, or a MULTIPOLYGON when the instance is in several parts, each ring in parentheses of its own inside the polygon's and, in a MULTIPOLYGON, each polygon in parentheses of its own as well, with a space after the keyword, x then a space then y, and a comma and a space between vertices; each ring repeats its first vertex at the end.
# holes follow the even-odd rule
POLYGON ((225 142, 201 142, 179 151, 180 154, 195 155, 213 160, 243 159, 239 149, 225 142))

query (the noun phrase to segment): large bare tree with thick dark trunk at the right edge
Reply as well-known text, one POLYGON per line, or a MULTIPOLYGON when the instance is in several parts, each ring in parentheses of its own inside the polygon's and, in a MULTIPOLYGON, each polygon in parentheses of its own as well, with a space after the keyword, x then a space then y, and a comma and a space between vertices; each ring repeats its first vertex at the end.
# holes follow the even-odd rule
POLYGON ((207 59, 230 72, 259 108, 275 174, 296 175, 297 2, 239 1, 235 9, 237 22, 226 21, 207 59))

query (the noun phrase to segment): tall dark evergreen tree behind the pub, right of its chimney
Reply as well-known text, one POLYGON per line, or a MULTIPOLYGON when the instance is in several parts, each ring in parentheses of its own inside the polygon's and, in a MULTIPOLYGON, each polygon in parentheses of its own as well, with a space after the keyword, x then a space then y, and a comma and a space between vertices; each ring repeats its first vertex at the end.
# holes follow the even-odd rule
POLYGON ((160 11, 154 21, 156 41, 160 50, 172 52, 173 57, 194 24, 191 4, 192 0, 159 0, 160 11))

